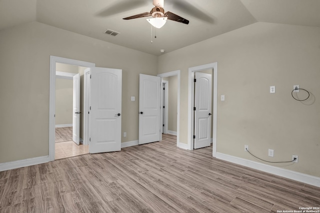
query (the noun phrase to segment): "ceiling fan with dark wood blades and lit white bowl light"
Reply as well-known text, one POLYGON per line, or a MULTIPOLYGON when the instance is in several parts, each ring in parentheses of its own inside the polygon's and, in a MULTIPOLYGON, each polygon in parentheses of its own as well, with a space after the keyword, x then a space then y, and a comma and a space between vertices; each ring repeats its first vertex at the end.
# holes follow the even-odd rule
POLYGON ((172 12, 165 12, 163 9, 164 0, 153 0, 154 7, 151 9, 150 12, 143 12, 140 14, 132 15, 129 17, 125 17, 123 19, 133 19, 133 18, 141 18, 141 17, 148 17, 152 16, 153 18, 147 19, 147 21, 152 24, 154 27, 160 28, 164 25, 166 19, 177 21, 180 23, 188 24, 189 21, 181 16, 178 16, 172 12))

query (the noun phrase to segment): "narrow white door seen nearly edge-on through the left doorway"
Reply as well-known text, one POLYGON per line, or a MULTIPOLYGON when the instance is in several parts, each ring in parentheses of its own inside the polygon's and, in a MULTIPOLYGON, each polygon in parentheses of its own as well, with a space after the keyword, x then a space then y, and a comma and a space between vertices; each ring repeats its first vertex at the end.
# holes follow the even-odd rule
POLYGON ((80 76, 73 76, 72 141, 80 144, 80 76))

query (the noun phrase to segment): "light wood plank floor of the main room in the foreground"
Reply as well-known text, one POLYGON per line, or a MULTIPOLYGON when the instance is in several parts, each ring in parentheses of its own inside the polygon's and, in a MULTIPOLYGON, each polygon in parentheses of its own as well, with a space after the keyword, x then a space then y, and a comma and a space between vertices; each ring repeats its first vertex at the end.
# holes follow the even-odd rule
POLYGON ((319 207, 320 189, 212 158, 175 138, 0 172, 0 213, 268 213, 319 207))

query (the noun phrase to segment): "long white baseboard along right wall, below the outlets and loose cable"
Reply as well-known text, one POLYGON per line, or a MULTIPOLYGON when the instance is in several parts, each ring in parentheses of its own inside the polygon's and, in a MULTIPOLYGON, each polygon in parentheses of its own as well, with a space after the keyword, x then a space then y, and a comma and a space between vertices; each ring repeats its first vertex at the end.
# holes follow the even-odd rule
POLYGON ((281 176, 281 177, 291 179, 294 181, 299 181, 299 182, 302 182, 305 184, 320 187, 320 178, 319 177, 315 177, 315 176, 311 176, 311 175, 307 175, 307 174, 303 174, 303 173, 299 173, 299 172, 294 172, 291 170, 282 169, 279 167, 274 167, 274 166, 270 166, 267 164, 262 164, 259 162, 250 161, 247 159, 238 158, 238 157, 234 157, 231 155, 226 155, 226 154, 218 153, 218 152, 216 153, 216 158, 224 160, 224 161, 228 161, 228 162, 231 162, 234 164, 239 164, 239 165, 242 165, 245 167, 249 167, 252 169, 267 172, 267 173, 270 173, 273 175, 281 176))

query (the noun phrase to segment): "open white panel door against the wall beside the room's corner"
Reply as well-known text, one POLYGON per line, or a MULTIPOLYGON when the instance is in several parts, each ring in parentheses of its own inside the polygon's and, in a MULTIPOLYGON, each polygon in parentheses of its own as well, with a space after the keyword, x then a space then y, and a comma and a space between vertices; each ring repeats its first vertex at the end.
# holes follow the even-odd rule
POLYGON ((157 76, 139 75, 138 144, 160 140, 160 81, 157 76))

